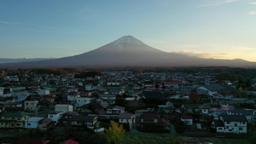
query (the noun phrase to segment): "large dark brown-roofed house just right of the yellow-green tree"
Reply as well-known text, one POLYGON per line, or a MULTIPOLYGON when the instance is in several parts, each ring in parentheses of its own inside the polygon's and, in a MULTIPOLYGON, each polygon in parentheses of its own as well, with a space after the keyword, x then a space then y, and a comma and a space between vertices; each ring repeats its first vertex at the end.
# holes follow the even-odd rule
POLYGON ((148 132, 170 132, 171 124, 154 112, 143 112, 137 130, 148 132))

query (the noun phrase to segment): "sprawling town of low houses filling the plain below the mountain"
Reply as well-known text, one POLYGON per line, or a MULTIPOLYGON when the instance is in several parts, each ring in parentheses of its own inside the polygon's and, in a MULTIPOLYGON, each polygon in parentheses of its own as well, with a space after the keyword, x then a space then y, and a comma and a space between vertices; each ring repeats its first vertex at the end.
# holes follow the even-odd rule
POLYGON ((145 134, 256 141, 254 69, 1 68, 0 104, 1 143, 143 143, 131 139, 145 134))

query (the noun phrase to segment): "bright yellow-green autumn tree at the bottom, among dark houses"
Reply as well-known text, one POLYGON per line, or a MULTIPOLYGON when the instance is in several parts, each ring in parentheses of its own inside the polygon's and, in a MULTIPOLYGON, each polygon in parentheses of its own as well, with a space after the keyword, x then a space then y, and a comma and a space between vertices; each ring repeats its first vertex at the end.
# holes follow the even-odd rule
POLYGON ((108 128, 108 130, 106 130, 106 139, 108 141, 108 143, 119 143, 119 141, 122 141, 125 138, 125 130, 123 129, 123 125, 119 125, 117 123, 115 123, 113 120, 110 121, 111 124, 108 128))

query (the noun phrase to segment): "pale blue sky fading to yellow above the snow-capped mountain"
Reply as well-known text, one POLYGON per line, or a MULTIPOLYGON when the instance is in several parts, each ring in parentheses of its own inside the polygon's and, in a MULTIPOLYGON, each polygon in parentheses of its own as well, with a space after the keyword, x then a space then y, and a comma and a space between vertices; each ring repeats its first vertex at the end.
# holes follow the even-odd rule
POLYGON ((256 61, 256 0, 0 0, 0 58, 79 55, 125 35, 166 52, 256 61))

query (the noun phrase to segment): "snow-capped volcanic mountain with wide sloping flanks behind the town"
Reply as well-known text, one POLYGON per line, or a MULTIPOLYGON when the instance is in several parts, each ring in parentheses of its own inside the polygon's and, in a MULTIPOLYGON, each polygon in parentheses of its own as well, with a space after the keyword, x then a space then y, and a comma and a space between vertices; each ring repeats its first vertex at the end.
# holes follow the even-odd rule
POLYGON ((90 52, 54 60, 0 64, 6 68, 108 68, 162 66, 230 66, 253 67, 247 60, 203 59, 154 49, 132 36, 124 36, 90 52))

